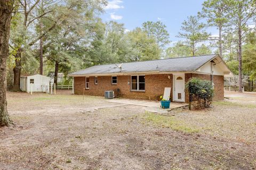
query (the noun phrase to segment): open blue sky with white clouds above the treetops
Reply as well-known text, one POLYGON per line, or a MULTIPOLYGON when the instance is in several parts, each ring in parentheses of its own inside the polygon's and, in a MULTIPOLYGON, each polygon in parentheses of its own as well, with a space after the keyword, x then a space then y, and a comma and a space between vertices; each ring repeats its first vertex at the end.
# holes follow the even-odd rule
MULTIPOLYGON (((167 27, 170 40, 175 43, 175 37, 180 31, 181 23, 187 16, 196 15, 201 11, 204 0, 109 0, 102 15, 103 21, 114 20, 124 23, 127 30, 141 27, 146 21, 161 20, 167 27)), ((217 34, 217 29, 209 30, 212 35, 217 34)))

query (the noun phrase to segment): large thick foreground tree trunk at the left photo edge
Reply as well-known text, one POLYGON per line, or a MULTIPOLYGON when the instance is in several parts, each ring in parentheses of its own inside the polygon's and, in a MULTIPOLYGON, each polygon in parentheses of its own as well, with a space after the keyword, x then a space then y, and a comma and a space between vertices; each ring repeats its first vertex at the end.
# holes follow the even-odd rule
POLYGON ((6 101, 6 60, 9 56, 12 7, 13 1, 0 1, 0 126, 8 126, 12 123, 6 101))

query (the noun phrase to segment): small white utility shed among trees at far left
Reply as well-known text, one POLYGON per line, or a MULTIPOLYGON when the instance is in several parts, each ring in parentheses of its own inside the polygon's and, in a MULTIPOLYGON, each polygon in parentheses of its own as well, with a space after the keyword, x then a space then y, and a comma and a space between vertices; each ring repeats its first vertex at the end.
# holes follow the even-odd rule
POLYGON ((20 89, 22 91, 30 92, 32 88, 32 92, 46 92, 48 90, 50 81, 50 77, 40 74, 21 77, 20 89))

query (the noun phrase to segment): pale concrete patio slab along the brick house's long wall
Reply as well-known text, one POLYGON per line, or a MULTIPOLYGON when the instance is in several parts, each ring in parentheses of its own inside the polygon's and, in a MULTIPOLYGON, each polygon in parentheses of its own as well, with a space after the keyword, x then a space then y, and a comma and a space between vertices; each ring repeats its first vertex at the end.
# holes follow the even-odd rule
POLYGON ((119 103, 119 104, 126 104, 126 105, 134 105, 134 106, 143 106, 145 107, 146 111, 155 112, 155 113, 167 113, 171 109, 179 108, 183 106, 188 106, 186 103, 176 103, 171 102, 169 109, 161 108, 161 104, 159 101, 149 101, 149 100, 135 100, 135 99, 111 99, 107 100, 111 103, 119 103))

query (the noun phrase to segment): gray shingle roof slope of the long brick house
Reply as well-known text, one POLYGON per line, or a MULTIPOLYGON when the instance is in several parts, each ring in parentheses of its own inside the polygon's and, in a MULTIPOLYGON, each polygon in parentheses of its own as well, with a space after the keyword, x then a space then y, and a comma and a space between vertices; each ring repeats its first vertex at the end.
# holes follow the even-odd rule
MULTIPOLYGON (((122 73, 150 72, 150 71, 159 71, 159 72, 196 71, 199 67, 201 67, 203 64, 212 60, 212 58, 214 58, 215 56, 217 55, 213 54, 213 55, 167 58, 162 60, 123 63, 122 73)), ((111 73, 120 73, 120 69, 116 66, 116 64, 95 65, 87 69, 71 73, 69 75, 73 76, 73 75, 83 75, 83 74, 111 74, 111 73)))

